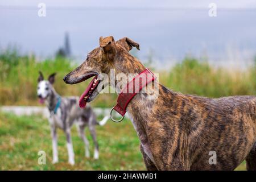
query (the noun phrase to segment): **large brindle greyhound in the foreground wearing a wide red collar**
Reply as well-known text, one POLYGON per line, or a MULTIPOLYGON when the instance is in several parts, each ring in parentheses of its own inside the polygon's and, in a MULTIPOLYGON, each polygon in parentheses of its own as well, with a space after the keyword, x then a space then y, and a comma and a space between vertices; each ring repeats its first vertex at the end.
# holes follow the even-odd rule
MULTIPOLYGON (((100 47, 64 77, 76 84, 100 73, 141 73, 145 67, 134 56, 137 47, 129 38, 100 38, 100 47)), ((159 84, 154 81, 151 84, 159 84)), ((97 86, 97 85, 96 85, 97 86)), ((141 140, 148 170, 233 170, 244 159, 247 169, 256 169, 256 97, 235 96, 210 99, 173 92, 159 84, 159 96, 136 94, 127 111, 141 140), (216 164, 209 154, 216 152, 216 164)), ((101 89, 86 98, 92 101, 101 89)))

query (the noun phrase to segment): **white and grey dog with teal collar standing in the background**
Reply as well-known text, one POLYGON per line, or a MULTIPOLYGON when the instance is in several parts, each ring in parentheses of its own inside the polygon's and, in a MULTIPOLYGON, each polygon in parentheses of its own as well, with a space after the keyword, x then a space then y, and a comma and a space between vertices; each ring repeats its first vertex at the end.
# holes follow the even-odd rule
POLYGON ((71 127, 73 123, 76 123, 79 136, 85 144, 86 157, 89 157, 90 153, 89 142, 84 134, 84 129, 86 126, 89 127, 94 142, 94 159, 98 159, 98 142, 96 140, 95 126, 103 126, 108 120, 108 117, 106 116, 101 122, 97 122, 96 115, 93 113, 90 106, 86 106, 85 109, 80 109, 78 105, 79 97, 60 97, 52 86, 55 81, 55 75, 56 73, 53 73, 48 77, 48 80, 44 80, 42 72, 39 72, 37 88, 40 102, 43 104, 45 101, 49 110, 49 124, 51 126, 53 149, 52 163, 57 163, 59 160, 56 129, 60 128, 65 132, 67 137, 68 162, 72 165, 75 164, 75 154, 71 139, 71 127))

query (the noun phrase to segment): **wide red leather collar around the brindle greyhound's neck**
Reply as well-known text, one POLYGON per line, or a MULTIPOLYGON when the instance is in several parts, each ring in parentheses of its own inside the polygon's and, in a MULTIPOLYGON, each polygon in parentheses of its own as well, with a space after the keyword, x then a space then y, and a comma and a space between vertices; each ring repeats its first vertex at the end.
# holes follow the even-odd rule
POLYGON ((126 87, 122 89, 122 92, 119 94, 117 99, 117 105, 115 105, 113 109, 124 116, 126 113, 126 107, 131 99, 135 96, 135 94, 139 93, 139 91, 142 90, 144 86, 154 81, 155 78, 156 77, 154 76, 154 73, 146 68, 143 72, 134 77, 133 80, 128 82, 126 87))

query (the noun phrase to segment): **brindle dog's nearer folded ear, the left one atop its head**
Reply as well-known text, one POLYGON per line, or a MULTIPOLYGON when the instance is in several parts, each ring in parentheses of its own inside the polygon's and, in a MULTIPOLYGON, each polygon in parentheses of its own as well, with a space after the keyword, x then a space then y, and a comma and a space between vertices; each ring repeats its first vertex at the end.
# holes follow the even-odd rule
POLYGON ((107 36, 106 38, 100 37, 100 47, 104 49, 104 52, 108 56, 109 60, 113 60, 117 47, 115 46, 115 40, 113 36, 107 36))

